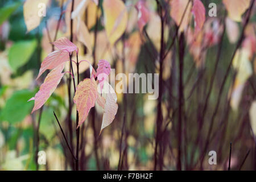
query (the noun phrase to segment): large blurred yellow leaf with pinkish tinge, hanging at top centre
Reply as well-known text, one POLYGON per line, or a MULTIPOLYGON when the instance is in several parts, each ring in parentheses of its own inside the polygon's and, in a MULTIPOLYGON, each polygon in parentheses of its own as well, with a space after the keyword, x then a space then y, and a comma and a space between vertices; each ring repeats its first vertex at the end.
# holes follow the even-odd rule
POLYGON ((121 0, 104 0, 105 30, 110 44, 121 37, 127 26, 128 14, 121 0))

